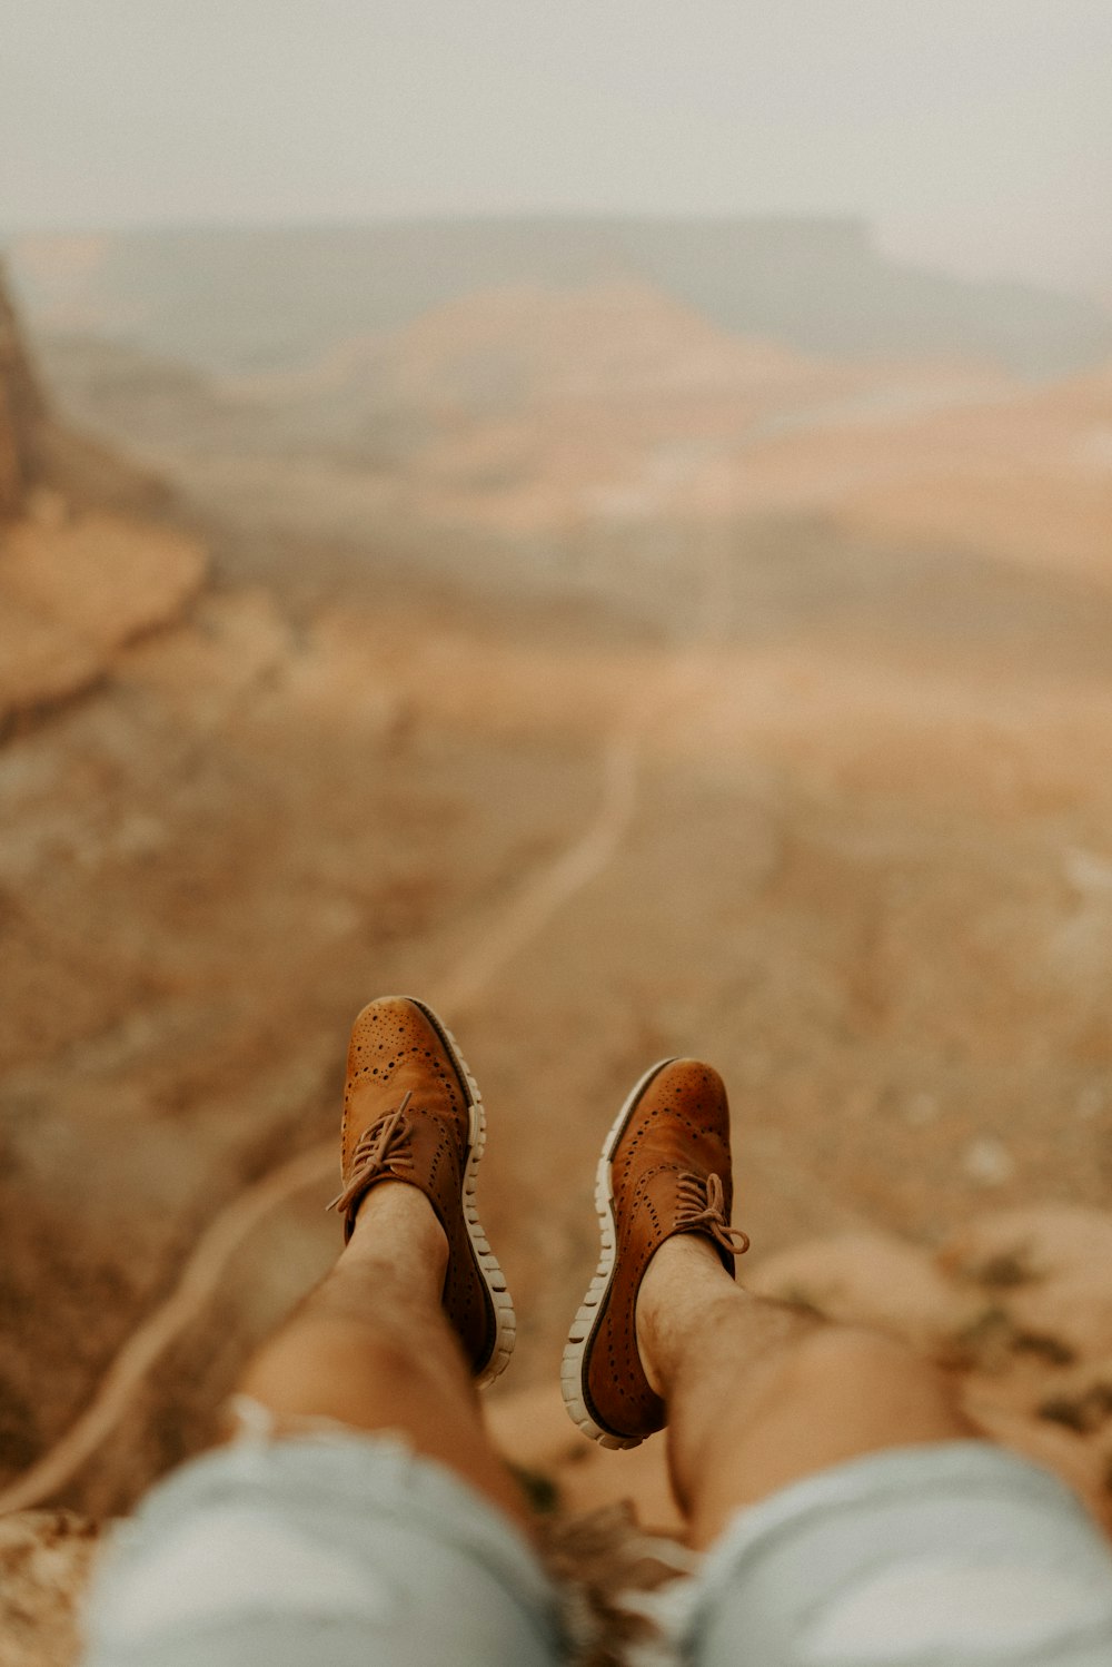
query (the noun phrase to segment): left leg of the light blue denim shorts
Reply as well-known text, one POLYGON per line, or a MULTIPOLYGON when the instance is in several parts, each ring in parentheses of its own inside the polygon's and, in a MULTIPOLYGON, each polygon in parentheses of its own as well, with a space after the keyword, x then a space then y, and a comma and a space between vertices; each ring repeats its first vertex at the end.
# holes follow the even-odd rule
POLYGON ((514 1525, 391 1437, 240 1439, 117 1530, 88 1667, 551 1667, 556 1597, 514 1525))

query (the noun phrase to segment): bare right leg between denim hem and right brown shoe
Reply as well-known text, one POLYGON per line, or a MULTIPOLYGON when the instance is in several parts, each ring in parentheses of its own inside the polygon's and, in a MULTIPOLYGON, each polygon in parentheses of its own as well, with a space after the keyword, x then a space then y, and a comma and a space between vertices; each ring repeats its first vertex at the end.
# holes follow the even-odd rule
POLYGON ((929 1362, 879 1332, 751 1295, 694 1234, 649 1262, 636 1324, 696 1545, 741 1505, 827 1465, 977 1434, 929 1362))

